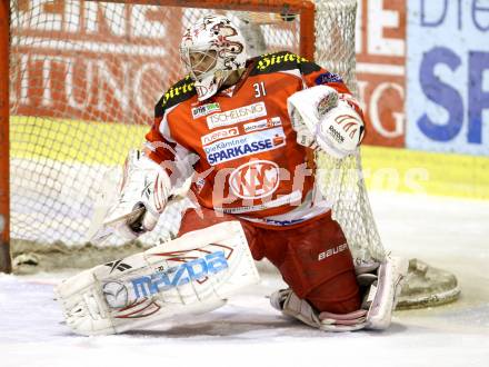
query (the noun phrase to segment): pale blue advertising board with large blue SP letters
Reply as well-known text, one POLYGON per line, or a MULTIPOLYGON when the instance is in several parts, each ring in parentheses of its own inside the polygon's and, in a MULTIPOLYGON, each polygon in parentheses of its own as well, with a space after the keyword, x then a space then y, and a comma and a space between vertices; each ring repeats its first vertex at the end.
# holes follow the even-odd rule
POLYGON ((489 156, 489 0, 409 0, 406 145, 489 156))

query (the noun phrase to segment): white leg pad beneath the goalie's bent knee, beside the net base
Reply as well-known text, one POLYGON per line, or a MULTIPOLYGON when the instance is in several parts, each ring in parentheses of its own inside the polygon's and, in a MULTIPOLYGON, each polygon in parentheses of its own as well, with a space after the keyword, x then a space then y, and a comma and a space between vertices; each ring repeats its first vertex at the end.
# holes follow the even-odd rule
POLYGON ((363 290, 359 310, 349 314, 318 313, 291 289, 281 289, 270 297, 273 308, 323 331, 387 329, 400 292, 400 284, 408 271, 408 261, 387 257, 382 264, 358 267, 357 280, 363 290))

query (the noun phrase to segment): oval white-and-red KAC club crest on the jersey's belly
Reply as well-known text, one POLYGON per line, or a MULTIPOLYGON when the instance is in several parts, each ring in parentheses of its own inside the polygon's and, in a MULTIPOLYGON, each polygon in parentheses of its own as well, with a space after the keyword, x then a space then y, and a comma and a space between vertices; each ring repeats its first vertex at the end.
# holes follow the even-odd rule
POLYGON ((279 166, 268 160, 253 160, 238 167, 229 177, 231 192, 241 199, 261 199, 279 187, 279 166))

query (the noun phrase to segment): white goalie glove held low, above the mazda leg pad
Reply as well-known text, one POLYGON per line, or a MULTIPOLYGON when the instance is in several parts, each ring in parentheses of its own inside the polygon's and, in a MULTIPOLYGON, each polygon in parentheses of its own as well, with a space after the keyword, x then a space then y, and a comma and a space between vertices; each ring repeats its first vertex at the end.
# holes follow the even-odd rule
POLYGON ((164 169, 144 152, 131 150, 126 159, 118 202, 109 210, 103 225, 121 221, 117 231, 128 240, 152 230, 170 190, 170 178, 164 169), (141 214, 134 217, 134 212, 141 214))

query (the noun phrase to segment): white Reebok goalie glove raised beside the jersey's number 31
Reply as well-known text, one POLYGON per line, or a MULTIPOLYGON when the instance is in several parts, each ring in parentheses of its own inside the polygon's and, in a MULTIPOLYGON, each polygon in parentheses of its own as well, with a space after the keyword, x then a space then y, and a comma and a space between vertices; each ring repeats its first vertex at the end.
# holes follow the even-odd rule
POLYGON ((298 91, 288 98, 287 107, 302 146, 319 146, 335 158, 345 158, 355 153, 363 139, 362 118, 331 87, 298 91))

